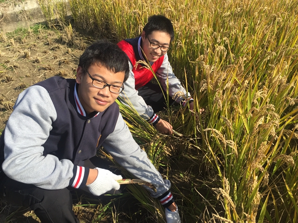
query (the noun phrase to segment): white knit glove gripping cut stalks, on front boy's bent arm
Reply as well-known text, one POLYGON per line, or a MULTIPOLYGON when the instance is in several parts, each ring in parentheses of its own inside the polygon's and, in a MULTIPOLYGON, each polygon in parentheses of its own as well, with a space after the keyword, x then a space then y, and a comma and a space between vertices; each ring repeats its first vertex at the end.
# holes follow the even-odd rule
POLYGON ((98 171, 96 179, 92 183, 86 185, 93 195, 99 196, 112 189, 120 189, 120 184, 116 180, 122 179, 121 175, 116 175, 107 169, 98 167, 95 169, 98 171))

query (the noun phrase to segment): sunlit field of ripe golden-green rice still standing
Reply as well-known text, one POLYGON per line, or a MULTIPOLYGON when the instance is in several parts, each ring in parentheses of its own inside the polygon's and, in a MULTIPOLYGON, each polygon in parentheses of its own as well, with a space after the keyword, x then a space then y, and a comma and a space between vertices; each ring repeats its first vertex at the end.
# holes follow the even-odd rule
MULTIPOLYGON (((72 29, 66 1, 39 2, 49 24, 58 16, 72 29)), ((140 35, 152 14, 172 20, 168 54, 197 114, 168 108, 160 115, 183 136, 163 136, 120 107, 137 142, 172 181, 182 222, 298 222, 298 0, 69 4, 74 29, 115 43, 140 35)), ((143 188, 128 189, 152 222, 165 221, 143 188)))

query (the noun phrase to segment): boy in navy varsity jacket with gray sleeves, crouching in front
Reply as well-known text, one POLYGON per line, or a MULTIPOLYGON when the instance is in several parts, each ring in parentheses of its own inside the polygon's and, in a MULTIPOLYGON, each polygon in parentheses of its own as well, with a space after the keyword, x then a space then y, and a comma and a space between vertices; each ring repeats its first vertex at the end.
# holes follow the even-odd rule
POLYGON ((120 188, 121 175, 84 166, 103 146, 122 167, 157 188, 146 189, 164 206, 167 223, 180 222, 170 182, 134 141, 115 103, 128 74, 125 53, 96 42, 79 58, 75 80, 51 77, 19 95, 0 138, 8 201, 29 206, 42 223, 79 223, 71 188, 86 186, 96 196, 120 188))

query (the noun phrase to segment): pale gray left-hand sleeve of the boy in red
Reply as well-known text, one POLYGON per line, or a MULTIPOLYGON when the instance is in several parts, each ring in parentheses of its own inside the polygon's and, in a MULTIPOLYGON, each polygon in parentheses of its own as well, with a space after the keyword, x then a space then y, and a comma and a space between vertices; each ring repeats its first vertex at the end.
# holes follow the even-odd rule
POLYGON ((133 73, 132 64, 129 62, 130 73, 127 81, 124 83, 124 90, 119 95, 118 100, 131 108, 134 108, 145 120, 150 123, 157 123, 158 116, 154 113, 151 106, 148 106, 144 99, 138 95, 138 91, 135 89, 135 76, 133 73))

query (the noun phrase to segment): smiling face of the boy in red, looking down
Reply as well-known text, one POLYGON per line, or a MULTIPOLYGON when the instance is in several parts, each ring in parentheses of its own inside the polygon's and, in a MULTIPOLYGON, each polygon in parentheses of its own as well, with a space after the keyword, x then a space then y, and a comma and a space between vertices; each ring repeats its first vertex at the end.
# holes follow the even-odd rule
POLYGON ((150 62, 155 62, 158 58, 165 55, 166 52, 150 47, 150 42, 161 47, 170 47, 171 37, 169 34, 160 31, 153 31, 146 37, 145 31, 142 32, 142 49, 150 62))

